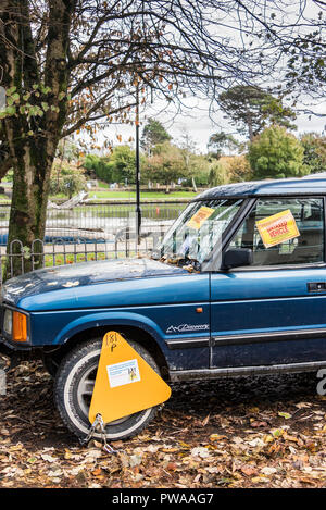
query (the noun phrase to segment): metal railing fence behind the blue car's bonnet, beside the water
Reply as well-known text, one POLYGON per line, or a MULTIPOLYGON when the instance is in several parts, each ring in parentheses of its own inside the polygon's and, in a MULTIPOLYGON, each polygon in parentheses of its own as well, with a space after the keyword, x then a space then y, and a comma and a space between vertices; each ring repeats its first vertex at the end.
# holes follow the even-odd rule
POLYGON ((30 249, 18 239, 7 247, 10 207, 0 206, 0 283, 41 268, 145 256, 152 252, 178 217, 186 202, 141 204, 140 244, 136 238, 133 203, 83 204, 72 210, 48 210, 45 239, 30 249))

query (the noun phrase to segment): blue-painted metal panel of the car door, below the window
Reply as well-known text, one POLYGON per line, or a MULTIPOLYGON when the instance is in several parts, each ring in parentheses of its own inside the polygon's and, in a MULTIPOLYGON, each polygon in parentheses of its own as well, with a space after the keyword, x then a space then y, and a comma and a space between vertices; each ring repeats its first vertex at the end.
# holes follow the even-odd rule
MULTIPOLYGON (((212 275, 212 335, 326 328, 326 291, 308 282, 326 281, 326 269, 234 271, 212 275)), ((212 366, 253 366, 326 359, 326 336, 249 345, 215 346, 212 366)))

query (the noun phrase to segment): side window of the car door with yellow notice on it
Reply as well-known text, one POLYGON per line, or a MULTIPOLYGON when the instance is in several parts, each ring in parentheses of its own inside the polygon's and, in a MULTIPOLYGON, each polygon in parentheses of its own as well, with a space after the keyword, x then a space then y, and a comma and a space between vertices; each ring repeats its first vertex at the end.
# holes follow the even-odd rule
POLYGON ((229 248, 252 249, 252 265, 256 266, 323 262, 323 199, 258 200, 229 248))

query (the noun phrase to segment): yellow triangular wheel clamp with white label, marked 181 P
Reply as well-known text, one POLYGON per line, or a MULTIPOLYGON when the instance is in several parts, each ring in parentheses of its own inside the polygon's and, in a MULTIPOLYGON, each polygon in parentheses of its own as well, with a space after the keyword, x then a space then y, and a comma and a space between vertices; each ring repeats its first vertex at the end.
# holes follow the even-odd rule
POLYGON ((89 421, 101 414, 106 424, 165 402, 171 388, 116 332, 104 335, 89 421))

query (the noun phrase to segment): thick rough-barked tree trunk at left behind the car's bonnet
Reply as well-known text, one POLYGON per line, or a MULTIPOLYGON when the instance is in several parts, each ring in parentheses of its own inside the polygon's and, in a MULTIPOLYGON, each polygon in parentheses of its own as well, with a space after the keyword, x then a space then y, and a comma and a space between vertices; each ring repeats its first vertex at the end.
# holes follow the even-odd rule
MULTIPOLYGON (((49 29, 41 77, 28 2, 1 0, 0 65, 3 85, 8 89, 14 86, 18 99, 14 112, 3 120, 14 170, 4 279, 20 274, 22 269, 30 271, 41 262, 40 256, 39 260, 34 258, 33 264, 29 251, 35 239, 42 241, 45 237, 51 167, 67 111, 68 34, 75 4, 76 0, 49 2, 49 29), (20 108, 26 92, 29 94, 29 113, 20 108), (36 108, 38 110, 33 111, 36 108), (14 242, 15 239, 18 242, 14 242), (24 266, 22 249, 26 256, 24 266)), ((39 244, 37 251, 41 251, 39 244)))

